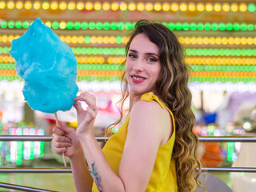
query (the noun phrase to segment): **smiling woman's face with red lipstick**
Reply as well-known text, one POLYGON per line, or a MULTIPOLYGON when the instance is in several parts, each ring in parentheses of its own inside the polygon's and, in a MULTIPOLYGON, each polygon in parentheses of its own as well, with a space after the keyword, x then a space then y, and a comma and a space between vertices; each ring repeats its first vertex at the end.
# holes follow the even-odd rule
POLYGON ((160 70, 159 47, 146 34, 136 35, 126 58, 126 79, 131 94, 154 92, 160 70))

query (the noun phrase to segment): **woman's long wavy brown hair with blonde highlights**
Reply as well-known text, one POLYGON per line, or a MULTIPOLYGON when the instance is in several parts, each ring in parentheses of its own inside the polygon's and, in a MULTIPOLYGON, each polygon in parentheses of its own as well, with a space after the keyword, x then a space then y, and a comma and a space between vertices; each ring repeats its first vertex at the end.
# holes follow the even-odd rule
MULTIPOLYGON (((137 22, 134 32, 130 35, 126 44, 126 55, 130 43, 138 34, 146 34, 150 41, 154 42, 160 49, 159 60, 162 70, 155 94, 166 103, 166 106, 174 114, 176 135, 172 158, 174 158, 176 164, 178 191, 195 191, 197 186, 205 189, 198 180, 201 173, 201 163, 198 161, 196 153, 198 138, 192 131, 195 117, 190 108, 192 96, 187 86, 189 73, 184 60, 185 51, 178 42, 176 35, 166 26, 141 20, 137 22)), ((122 63, 122 67, 124 66, 125 62, 122 63)), ((128 82, 124 73, 122 74, 122 98, 119 101, 121 115, 118 121, 111 124, 107 130, 122 121, 122 106, 128 96, 128 82)))

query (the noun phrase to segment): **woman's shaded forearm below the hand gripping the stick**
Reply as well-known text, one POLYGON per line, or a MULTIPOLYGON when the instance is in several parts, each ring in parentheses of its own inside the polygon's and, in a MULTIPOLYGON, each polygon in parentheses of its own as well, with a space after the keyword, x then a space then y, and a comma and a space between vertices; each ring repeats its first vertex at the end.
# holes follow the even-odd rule
POLYGON ((91 191, 93 178, 88 170, 86 159, 82 151, 74 158, 70 158, 70 165, 72 168, 76 191, 91 191))

